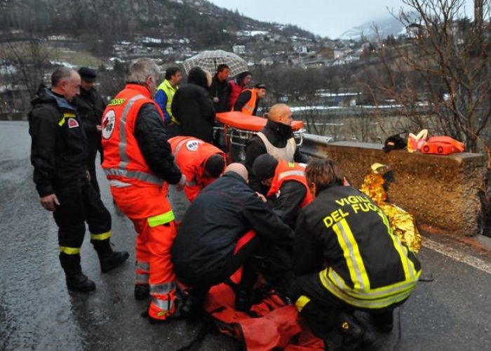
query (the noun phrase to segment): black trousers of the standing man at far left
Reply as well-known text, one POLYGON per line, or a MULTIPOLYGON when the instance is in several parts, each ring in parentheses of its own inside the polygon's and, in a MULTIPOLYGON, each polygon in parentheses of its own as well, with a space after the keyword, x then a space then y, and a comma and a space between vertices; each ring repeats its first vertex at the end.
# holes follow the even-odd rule
POLYGON ((53 212, 59 228, 60 248, 69 248, 68 252, 70 249, 80 249, 86 231, 86 222, 92 234, 91 241, 109 239, 111 214, 86 178, 55 186, 55 194, 60 202, 53 212))

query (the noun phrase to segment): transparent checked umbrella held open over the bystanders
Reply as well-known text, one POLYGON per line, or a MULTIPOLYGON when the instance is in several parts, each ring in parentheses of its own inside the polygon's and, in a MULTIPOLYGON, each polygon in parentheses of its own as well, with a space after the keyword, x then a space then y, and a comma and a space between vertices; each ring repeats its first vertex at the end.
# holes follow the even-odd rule
POLYGON ((202 51, 184 61, 184 70, 189 73, 193 67, 207 69, 211 74, 217 72, 218 65, 225 63, 230 67, 231 77, 247 71, 247 62, 240 56, 223 50, 202 51))

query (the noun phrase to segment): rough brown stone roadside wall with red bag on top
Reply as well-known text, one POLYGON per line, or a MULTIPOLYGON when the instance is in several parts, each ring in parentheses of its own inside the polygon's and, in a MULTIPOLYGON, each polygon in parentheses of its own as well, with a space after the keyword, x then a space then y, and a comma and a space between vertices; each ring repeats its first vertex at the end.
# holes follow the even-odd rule
POLYGON ((418 224, 460 235, 480 231, 478 190, 485 173, 483 154, 385 153, 379 144, 327 143, 327 138, 318 135, 305 135, 302 152, 335 159, 355 187, 360 187, 371 164, 389 164, 389 201, 414 213, 418 224))

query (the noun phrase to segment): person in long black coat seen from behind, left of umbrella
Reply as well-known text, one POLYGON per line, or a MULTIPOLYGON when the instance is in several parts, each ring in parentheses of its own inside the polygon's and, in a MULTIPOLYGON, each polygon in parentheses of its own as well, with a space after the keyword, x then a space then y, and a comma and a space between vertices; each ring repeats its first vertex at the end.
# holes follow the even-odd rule
POLYGON ((210 72, 193 67, 187 76, 187 84, 175 92, 170 109, 179 123, 179 135, 213 142, 215 110, 208 92, 211 79, 210 72))

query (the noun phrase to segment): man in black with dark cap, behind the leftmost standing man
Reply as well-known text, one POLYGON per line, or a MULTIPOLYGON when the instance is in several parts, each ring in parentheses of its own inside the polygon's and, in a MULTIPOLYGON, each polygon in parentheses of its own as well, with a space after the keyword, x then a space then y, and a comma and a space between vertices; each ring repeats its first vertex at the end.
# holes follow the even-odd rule
POLYGON ((102 144, 100 143, 100 123, 102 120, 102 112, 106 108, 104 100, 100 93, 95 90, 94 82, 97 74, 93 69, 81 67, 79 69, 81 78, 80 95, 76 95, 76 113, 82 121, 83 130, 87 135, 88 158, 87 168, 90 173, 90 183, 92 183, 95 191, 100 194, 97 176, 95 174, 95 157, 97 151, 100 153, 102 161, 102 144))

